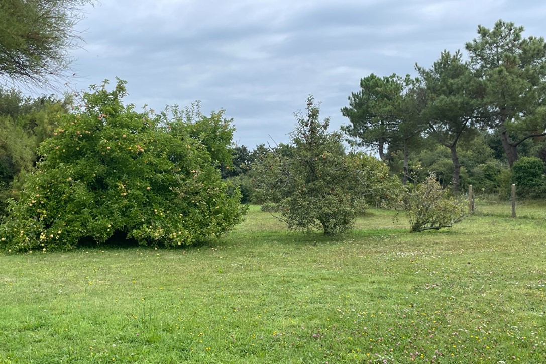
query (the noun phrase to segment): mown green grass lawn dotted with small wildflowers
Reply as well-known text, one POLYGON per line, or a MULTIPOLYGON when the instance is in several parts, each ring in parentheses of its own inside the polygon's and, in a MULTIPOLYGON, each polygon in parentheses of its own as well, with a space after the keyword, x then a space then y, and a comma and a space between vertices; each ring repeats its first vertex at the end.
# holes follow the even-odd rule
POLYGON ((545 211, 331 239, 254 207, 199 247, 0 255, 0 363, 546 362, 545 211))

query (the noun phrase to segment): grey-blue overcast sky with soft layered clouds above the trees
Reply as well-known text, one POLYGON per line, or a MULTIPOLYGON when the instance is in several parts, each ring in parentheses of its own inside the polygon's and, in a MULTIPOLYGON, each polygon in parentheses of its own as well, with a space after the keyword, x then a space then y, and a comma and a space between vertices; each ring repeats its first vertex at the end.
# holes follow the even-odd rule
POLYGON ((414 74, 496 20, 546 35, 546 3, 503 0, 101 0, 78 28, 73 87, 128 82, 128 103, 225 109, 234 141, 286 142, 308 94, 331 129, 362 77, 414 74))

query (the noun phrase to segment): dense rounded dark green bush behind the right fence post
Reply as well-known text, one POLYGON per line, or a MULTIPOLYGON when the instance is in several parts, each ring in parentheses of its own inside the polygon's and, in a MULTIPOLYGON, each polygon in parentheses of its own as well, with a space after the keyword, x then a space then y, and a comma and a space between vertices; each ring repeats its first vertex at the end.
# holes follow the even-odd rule
POLYGON ((512 183, 520 198, 544 198, 546 180, 544 162, 537 157, 521 157, 512 166, 512 183))

